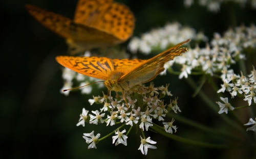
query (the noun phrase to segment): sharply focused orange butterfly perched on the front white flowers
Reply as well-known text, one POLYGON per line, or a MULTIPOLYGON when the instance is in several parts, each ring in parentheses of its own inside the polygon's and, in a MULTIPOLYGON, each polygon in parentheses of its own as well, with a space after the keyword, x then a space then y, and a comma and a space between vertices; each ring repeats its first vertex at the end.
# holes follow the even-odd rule
POLYGON ((78 73, 105 80, 106 88, 122 92, 126 102, 124 91, 153 80, 164 70, 166 62, 187 51, 187 48, 179 47, 188 41, 183 41, 148 60, 58 56, 56 61, 78 73))

